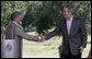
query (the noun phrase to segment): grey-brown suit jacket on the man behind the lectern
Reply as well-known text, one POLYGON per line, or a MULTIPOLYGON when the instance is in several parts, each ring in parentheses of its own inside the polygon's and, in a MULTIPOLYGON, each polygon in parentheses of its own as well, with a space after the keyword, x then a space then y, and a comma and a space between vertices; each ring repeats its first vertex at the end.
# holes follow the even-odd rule
POLYGON ((34 40, 34 42, 37 42, 38 40, 38 37, 37 36, 32 36, 32 35, 28 35, 26 33, 24 33, 24 31, 19 26, 16 25, 15 23, 11 22, 7 28, 5 28, 5 39, 27 39, 27 40, 34 40))

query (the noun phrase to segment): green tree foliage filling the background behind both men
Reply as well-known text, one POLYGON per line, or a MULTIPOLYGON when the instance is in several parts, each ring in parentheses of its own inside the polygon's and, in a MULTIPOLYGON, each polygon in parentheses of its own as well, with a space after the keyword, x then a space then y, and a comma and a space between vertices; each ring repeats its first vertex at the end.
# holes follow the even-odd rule
POLYGON ((36 27, 36 32, 47 33, 53 26, 64 19, 64 5, 72 5, 74 16, 81 17, 91 32, 91 1, 1 1, 1 31, 11 22, 10 15, 20 10, 23 13, 22 26, 36 27))

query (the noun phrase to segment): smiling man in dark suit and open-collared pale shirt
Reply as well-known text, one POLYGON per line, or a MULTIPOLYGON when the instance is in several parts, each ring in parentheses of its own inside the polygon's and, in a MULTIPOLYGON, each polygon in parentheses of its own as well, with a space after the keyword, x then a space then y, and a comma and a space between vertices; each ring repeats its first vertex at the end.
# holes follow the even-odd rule
POLYGON ((62 33, 62 45, 59 47, 60 58, 81 58, 81 52, 87 46, 87 30, 84 23, 73 16, 71 7, 64 7, 65 19, 59 22, 55 31, 43 36, 46 40, 62 33))

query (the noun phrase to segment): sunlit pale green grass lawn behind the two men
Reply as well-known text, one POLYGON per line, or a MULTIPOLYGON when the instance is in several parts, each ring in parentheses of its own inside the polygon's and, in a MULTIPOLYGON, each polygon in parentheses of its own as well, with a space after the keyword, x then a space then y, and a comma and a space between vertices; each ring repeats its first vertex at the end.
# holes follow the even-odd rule
MULTIPOLYGON (((27 33, 36 35, 35 32, 27 33)), ((44 43, 35 43, 23 39, 23 58, 59 58, 58 47, 61 45, 62 37, 55 36, 44 43)), ((87 58, 91 48, 91 36, 88 36, 88 45, 82 52, 82 58, 87 58)))

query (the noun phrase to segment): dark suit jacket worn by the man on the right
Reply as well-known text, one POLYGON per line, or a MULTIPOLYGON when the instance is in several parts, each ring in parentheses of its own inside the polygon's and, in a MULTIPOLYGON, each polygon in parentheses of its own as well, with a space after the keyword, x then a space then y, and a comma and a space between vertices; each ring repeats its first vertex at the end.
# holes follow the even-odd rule
POLYGON ((66 20, 61 20, 55 31, 45 35, 46 39, 49 39, 60 32, 62 34, 62 45, 60 50, 62 54, 68 54, 70 48, 72 55, 79 55, 79 47, 87 46, 87 30, 84 23, 81 20, 73 17, 69 35, 66 20))

